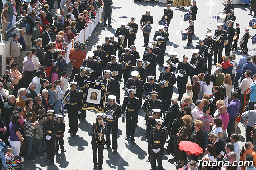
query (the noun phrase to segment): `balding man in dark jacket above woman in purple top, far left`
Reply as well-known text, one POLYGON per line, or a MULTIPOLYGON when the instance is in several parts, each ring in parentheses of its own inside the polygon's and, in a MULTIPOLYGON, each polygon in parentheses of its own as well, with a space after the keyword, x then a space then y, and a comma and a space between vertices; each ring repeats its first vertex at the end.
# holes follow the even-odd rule
POLYGON ((7 128, 9 127, 9 123, 11 122, 11 116, 12 116, 12 111, 15 110, 15 102, 16 98, 14 95, 9 95, 8 96, 8 101, 4 103, 4 118, 5 118, 5 123, 7 125, 7 128))

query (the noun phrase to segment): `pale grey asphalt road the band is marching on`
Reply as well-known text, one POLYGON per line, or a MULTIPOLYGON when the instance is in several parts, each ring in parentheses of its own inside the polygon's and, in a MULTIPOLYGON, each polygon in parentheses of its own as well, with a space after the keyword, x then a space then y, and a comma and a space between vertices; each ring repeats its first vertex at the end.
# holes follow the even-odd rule
MULTIPOLYGON (((195 20, 195 35, 193 36, 193 46, 189 48, 186 47, 187 41, 182 41, 180 31, 188 27, 189 22, 184 22, 181 15, 188 12, 188 8, 178 9, 171 6, 171 9, 174 11, 174 17, 171 20, 169 28, 169 39, 170 42, 167 42, 166 55, 164 61, 166 61, 172 52, 178 53, 178 58, 182 61, 182 55, 192 56, 192 49, 195 48, 198 38, 204 37, 206 34, 206 28, 210 27, 213 30, 217 29, 216 27, 216 16, 218 12, 224 9, 224 4, 220 0, 200 0, 196 4, 198 6, 198 14, 196 15, 195 20)), ((151 15, 154 19, 154 24, 152 25, 153 29, 150 33, 150 41, 154 36, 154 32, 158 31, 158 22, 156 20, 160 19, 163 15, 165 4, 158 3, 141 3, 133 2, 133 0, 113 0, 112 6, 112 24, 111 28, 104 28, 103 23, 99 23, 96 27, 96 32, 91 35, 89 42, 88 52, 96 49, 96 43, 104 43, 104 36, 108 36, 110 33, 115 33, 116 29, 120 27, 120 22, 124 21, 126 23, 130 22, 130 17, 133 16, 136 18, 135 23, 139 24, 142 14, 145 14, 145 9, 149 8, 151 10, 151 15), (127 16, 128 18, 120 18, 120 16, 127 16)), ((240 23, 240 37, 244 34, 244 28, 248 26, 248 22, 253 18, 252 16, 247 15, 249 13, 249 6, 236 5, 234 6, 234 15, 236 16, 235 23, 240 23)), ((254 31, 251 29, 250 34, 254 35, 254 31)), ((117 38, 115 38, 117 40, 117 38)), ((144 52, 144 48, 141 46, 144 45, 142 31, 138 30, 136 33, 136 49, 140 52, 140 59, 144 52)), ((248 49, 253 49, 251 40, 248 42, 248 49)), ((238 48, 239 49, 239 48, 238 48)), ((223 50, 224 51, 224 50, 223 50)), ((240 54, 236 53, 236 60, 240 58, 240 54)), ((223 52, 224 55, 224 52, 223 52)), ((190 58, 188 61, 190 61, 190 58)), ((68 64, 68 73, 70 74, 72 65, 68 64)), ((163 71, 163 68, 158 68, 157 79, 160 74, 160 71, 163 71)), ((212 68, 212 73, 214 68, 212 68)), ((189 80, 190 81, 190 80, 189 80)), ((124 86, 123 82, 120 86, 124 86)), ((176 84, 174 85, 174 95, 178 93, 176 84)), ((120 100, 121 104, 124 99, 124 91, 120 90, 120 100)), ((132 145, 130 141, 124 140, 126 137, 125 129, 126 125, 122 123, 119 119, 118 126, 118 154, 113 154, 111 149, 104 150, 104 162, 103 169, 118 169, 118 170, 149 170, 150 163, 146 163, 148 154, 148 146, 146 143, 146 137, 144 133, 146 132, 146 126, 144 125, 144 111, 141 109, 139 113, 139 122, 138 127, 136 128, 135 142, 136 145, 132 145)), ((36 156, 36 160, 25 160, 24 166, 29 170, 57 170, 57 169, 69 169, 69 170, 90 170, 93 167, 92 162, 92 147, 90 131, 92 124, 96 120, 96 116, 92 112, 87 111, 86 122, 79 121, 78 124, 78 133, 76 137, 70 137, 70 134, 67 133, 68 127, 68 117, 66 116, 66 132, 64 134, 64 147, 66 152, 61 152, 60 155, 56 156, 54 166, 48 166, 48 162, 44 162, 46 158, 46 153, 42 157, 36 156)), ((241 123, 238 124, 237 133, 241 135, 240 145, 244 145, 245 142, 245 128, 241 126, 241 123)), ((173 156, 164 152, 163 156, 163 168, 166 170, 176 169, 176 163, 174 163, 173 156)))

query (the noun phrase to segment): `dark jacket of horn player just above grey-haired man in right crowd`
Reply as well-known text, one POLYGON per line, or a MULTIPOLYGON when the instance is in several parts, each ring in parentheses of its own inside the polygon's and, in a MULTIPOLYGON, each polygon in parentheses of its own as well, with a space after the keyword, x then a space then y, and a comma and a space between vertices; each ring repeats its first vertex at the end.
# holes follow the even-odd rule
POLYGON ((158 78, 158 82, 160 82, 162 80, 169 81, 168 86, 162 88, 162 90, 164 90, 162 92, 164 92, 164 93, 172 93, 173 92, 173 85, 176 83, 176 78, 175 78, 174 73, 172 73, 172 72, 169 72, 169 73, 161 72, 160 76, 158 78))

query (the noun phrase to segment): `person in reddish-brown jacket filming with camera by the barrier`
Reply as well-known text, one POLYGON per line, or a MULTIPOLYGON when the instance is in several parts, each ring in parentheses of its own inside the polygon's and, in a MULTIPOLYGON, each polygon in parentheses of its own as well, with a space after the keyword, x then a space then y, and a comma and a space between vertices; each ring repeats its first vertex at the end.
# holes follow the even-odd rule
POLYGON ((83 63, 83 59, 86 58, 86 45, 80 43, 79 41, 76 41, 75 47, 70 50, 68 58, 70 59, 73 65, 69 79, 69 81, 72 82, 75 74, 80 73, 80 66, 83 63))

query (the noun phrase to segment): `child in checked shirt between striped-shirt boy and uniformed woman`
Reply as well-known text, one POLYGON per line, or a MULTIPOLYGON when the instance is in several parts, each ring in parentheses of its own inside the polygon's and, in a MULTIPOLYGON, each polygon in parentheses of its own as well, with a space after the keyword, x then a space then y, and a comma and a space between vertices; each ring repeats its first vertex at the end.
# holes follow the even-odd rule
POLYGON ((42 115, 36 115, 36 120, 38 124, 36 125, 36 133, 35 133, 35 138, 36 138, 36 153, 39 156, 42 156, 42 141, 43 141, 43 128, 42 128, 42 120, 43 116, 42 115))

